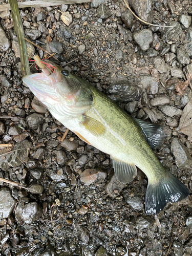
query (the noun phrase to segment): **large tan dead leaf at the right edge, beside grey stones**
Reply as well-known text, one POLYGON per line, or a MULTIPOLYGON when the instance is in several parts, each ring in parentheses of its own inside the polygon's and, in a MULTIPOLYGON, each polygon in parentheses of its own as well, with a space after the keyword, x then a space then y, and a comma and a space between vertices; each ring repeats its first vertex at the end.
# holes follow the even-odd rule
POLYGON ((179 121, 179 129, 183 134, 192 137, 192 98, 183 109, 183 114, 179 121))

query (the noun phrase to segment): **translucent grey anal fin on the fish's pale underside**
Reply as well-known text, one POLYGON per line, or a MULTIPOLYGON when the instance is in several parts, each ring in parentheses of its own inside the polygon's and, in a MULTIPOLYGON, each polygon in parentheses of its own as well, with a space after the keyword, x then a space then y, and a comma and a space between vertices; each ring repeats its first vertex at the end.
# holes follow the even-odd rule
POLYGON ((115 176, 121 183, 129 183, 137 176, 137 168, 134 163, 125 163, 112 158, 115 176))

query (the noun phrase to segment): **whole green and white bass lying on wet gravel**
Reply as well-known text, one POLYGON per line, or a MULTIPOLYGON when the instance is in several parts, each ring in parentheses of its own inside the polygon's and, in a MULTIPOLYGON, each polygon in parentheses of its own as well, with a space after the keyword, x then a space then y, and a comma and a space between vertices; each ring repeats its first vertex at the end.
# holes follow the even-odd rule
POLYGON ((162 126, 131 117, 91 83, 54 62, 46 63, 41 73, 24 76, 23 82, 54 118, 110 155, 120 183, 130 183, 137 167, 142 170, 148 179, 147 215, 157 215, 167 202, 178 202, 189 195, 187 187, 162 166, 152 150, 164 141, 162 126))

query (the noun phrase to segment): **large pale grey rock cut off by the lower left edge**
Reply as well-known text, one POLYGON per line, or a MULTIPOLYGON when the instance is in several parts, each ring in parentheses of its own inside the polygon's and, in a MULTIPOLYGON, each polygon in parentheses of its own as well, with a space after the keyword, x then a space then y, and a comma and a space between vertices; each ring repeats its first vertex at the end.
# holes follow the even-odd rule
POLYGON ((3 187, 0 189, 0 219, 9 218, 16 202, 9 188, 3 187))

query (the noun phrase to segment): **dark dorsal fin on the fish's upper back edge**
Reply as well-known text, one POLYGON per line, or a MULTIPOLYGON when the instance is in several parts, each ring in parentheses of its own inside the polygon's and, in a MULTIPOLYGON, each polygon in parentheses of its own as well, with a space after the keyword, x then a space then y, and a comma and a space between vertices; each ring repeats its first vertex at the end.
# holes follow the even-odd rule
POLYGON ((141 127, 146 137, 147 143, 152 148, 159 148, 164 141, 164 137, 165 137, 164 128, 158 124, 150 123, 137 118, 134 118, 134 119, 141 127))

